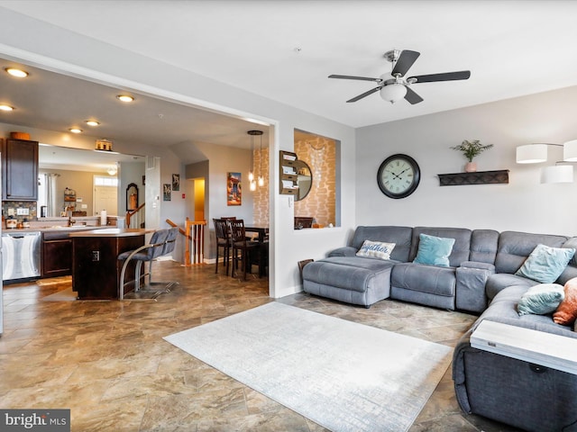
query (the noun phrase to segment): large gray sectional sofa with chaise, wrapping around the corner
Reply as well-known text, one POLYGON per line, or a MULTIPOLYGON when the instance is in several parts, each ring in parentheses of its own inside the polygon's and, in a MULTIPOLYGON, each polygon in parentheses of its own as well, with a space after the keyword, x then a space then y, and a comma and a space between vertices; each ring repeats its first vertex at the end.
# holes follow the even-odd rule
MULTIPOLYGON (((473 348, 482 320, 577 338, 577 324, 551 315, 519 316, 517 303, 539 282, 516 275, 537 245, 577 248, 577 238, 492 229, 361 226, 350 246, 303 268, 303 289, 340 302, 370 307, 384 299, 480 314, 453 354, 453 381, 463 411, 535 431, 577 431, 577 375, 529 365, 473 348), (448 266, 414 263, 421 234, 453 238, 448 266), (358 257, 365 240, 394 243, 390 259, 358 257)), ((555 281, 577 277, 572 257, 555 281)))

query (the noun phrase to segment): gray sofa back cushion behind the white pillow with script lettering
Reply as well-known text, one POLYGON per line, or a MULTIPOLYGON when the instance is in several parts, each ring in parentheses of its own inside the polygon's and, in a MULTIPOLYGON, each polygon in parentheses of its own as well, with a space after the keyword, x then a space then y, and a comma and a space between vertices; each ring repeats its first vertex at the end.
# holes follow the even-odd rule
POLYGON ((357 227, 354 231, 351 247, 359 250, 364 240, 384 241, 395 243, 395 248, 390 254, 390 259, 407 262, 411 248, 411 238, 413 229, 410 227, 397 226, 374 226, 374 227, 357 227))

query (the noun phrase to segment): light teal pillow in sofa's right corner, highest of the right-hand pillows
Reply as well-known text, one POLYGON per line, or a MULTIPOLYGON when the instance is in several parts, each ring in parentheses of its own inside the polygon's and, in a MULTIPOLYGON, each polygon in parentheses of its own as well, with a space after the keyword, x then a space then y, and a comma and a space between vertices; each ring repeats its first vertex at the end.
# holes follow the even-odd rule
POLYGON ((527 277, 541 284, 551 284, 575 255, 575 249, 537 245, 515 275, 527 277))

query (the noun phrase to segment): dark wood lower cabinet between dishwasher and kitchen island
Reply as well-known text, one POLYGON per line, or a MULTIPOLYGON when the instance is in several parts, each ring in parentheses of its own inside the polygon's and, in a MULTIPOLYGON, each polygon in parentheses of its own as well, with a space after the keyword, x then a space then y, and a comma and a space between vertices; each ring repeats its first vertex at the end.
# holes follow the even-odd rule
POLYGON ((42 277, 72 275, 72 239, 68 233, 42 236, 42 277))

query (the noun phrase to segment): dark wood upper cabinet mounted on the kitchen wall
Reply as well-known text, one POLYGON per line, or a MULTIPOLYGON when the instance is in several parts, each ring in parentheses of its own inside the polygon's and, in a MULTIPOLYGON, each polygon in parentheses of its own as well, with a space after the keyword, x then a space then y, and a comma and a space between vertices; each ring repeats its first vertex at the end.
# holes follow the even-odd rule
POLYGON ((2 145, 2 199, 38 199, 38 141, 5 139, 2 145))

